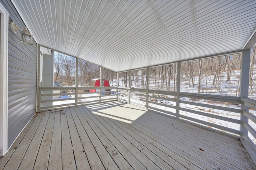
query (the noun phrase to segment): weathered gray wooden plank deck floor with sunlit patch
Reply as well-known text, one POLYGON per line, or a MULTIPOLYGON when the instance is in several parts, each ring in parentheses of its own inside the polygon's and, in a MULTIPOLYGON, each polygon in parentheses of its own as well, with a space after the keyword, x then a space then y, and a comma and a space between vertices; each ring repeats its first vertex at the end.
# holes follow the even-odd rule
POLYGON ((0 168, 256 169, 239 140, 122 102, 37 113, 0 168))

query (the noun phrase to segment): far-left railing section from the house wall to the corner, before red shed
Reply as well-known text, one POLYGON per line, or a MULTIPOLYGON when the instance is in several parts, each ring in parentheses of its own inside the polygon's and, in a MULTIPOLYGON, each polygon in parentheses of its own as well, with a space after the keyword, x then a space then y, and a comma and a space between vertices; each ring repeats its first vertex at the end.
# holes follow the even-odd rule
POLYGON ((116 87, 40 87, 38 111, 117 100, 116 87))

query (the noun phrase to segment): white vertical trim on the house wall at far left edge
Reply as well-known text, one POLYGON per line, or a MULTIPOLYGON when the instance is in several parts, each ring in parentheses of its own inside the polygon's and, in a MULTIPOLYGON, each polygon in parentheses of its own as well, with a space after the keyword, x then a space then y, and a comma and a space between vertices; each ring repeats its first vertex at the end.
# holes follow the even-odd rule
POLYGON ((0 156, 8 151, 8 23, 9 13, 0 3, 0 156))

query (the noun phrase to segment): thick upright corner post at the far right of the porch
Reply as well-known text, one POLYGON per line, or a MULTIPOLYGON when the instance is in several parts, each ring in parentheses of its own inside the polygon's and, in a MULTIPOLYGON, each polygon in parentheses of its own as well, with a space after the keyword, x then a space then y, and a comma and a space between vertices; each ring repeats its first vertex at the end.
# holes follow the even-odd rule
MULTIPOLYGON (((251 50, 244 50, 242 52, 242 66, 240 73, 240 98, 248 98, 248 86, 249 86, 249 72, 250 72, 250 52, 251 50)), ((241 102, 241 116, 240 116, 240 138, 243 136, 248 137, 248 130, 244 127, 244 122, 248 123, 248 118, 244 116, 244 111, 249 111, 249 107, 241 102)))

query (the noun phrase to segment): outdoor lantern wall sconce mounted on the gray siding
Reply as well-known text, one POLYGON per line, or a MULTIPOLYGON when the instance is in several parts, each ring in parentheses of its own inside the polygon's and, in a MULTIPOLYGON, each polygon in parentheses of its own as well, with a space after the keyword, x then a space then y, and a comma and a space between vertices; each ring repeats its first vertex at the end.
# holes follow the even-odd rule
POLYGON ((12 29, 12 31, 14 33, 17 33, 18 29, 23 29, 23 31, 20 31, 21 42, 24 44, 26 43, 29 45, 33 45, 33 43, 32 43, 33 35, 31 35, 31 33, 28 32, 28 28, 24 29, 24 28, 18 27, 18 25, 16 23, 14 23, 14 21, 10 22, 10 28, 12 29))

